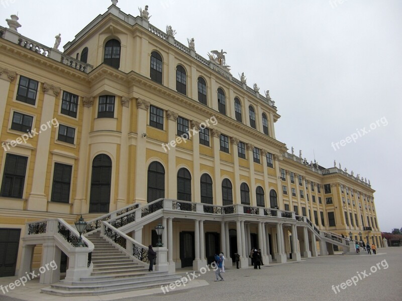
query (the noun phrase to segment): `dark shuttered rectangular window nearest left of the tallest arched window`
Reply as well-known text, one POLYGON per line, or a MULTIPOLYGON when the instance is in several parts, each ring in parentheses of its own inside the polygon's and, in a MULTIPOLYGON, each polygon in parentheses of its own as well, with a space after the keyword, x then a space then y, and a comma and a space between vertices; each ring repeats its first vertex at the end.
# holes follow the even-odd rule
POLYGON ((54 164, 52 202, 70 202, 71 171, 71 165, 54 164))

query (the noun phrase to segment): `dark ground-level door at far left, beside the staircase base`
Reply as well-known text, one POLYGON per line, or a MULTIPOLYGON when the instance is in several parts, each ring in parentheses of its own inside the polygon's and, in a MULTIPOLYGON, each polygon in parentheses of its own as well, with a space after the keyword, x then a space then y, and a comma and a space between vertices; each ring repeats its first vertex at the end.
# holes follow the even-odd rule
POLYGON ((0 229, 0 277, 16 273, 21 229, 0 229))

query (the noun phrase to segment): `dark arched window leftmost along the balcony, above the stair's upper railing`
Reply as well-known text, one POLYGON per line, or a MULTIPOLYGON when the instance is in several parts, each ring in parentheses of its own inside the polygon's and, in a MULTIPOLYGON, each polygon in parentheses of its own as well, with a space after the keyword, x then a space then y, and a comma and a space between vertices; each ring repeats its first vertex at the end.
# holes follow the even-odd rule
POLYGON ((148 167, 147 202, 165 197, 165 169, 159 162, 152 162, 148 167))

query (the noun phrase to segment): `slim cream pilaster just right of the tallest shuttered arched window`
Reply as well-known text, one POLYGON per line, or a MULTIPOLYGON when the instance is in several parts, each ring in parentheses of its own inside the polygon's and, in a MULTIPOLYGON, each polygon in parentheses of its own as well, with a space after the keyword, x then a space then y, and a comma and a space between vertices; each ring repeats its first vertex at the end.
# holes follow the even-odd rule
MULTIPOLYGON (((130 131, 130 100, 128 97, 122 96, 122 138, 120 142, 120 163, 119 163, 119 187, 116 209, 125 207, 127 202, 127 183, 129 166, 129 145, 128 134, 130 131)), ((112 211, 112 210, 111 210, 112 211)))

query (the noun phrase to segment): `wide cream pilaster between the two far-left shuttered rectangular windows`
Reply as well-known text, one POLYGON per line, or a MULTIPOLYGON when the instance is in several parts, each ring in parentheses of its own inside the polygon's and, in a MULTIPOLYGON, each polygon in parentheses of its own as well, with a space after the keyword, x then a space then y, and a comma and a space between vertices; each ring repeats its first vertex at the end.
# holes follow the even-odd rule
MULTIPOLYGON (((32 178, 32 190, 27 202, 27 210, 32 211, 47 210, 48 199, 45 194, 45 183, 46 175, 48 172, 50 172, 47 170, 49 163, 50 138, 52 131, 55 131, 56 133, 58 131, 58 128, 49 128, 47 122, 50 122, 53 119, 54 104, 56 102, 56 97, 60 94, 61 89, 60 87, 55 87, 48 83, 43 83, 42 89, 44 92, 42 116, 40 126, 37 129, 39 136, 37 144, 38 146, 36 148, 34 175, 32 178)), ((39 100, 37 101, 39 102, 39 100)))

